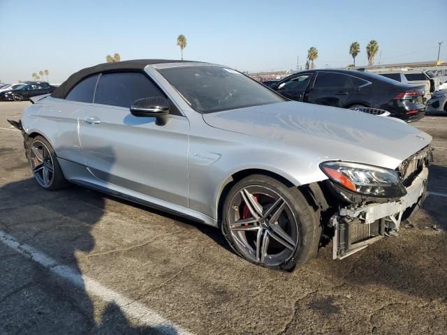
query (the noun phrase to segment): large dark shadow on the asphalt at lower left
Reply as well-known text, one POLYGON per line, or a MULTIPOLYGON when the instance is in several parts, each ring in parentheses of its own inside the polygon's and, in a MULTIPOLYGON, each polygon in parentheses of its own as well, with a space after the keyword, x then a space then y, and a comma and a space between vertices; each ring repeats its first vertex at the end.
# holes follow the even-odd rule
MULTIPOLYGON (((72 186, 50 192, 41 189, 34 179, 17 181, 0 188, 0 230, 81 274, 75 254, 93 250, 91 230, 103 216, 104 204, 100 193, 85 188, 72 186)), ((17 253, 14 257, 23 256, 17 253)), ((8 280, 8 274, 0 274, 0 311, 6 317, 0 322, 1 334, 177 334, 169 325, 132 325, 113 302, 105 304, 101 314, 96 315, 94 301, 83 282, 74 288, 34 262, 30 268, 22 261, 19 264, 10 265, 14 278, 8 280), (23 290, 27 290, 26 297, 15 297, 23 290), (8 315, 8 308, 17 304, 20 310, 8 315)), ((1 267, 3 271, 8 268, 8 258, 2 260, 1 267)))

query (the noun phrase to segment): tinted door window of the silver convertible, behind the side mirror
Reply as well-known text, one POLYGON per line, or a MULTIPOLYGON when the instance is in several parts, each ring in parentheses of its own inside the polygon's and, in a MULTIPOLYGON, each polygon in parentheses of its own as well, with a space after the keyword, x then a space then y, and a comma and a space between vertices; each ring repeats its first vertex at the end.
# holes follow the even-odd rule
POLYGON ((133 101, 149 96, 163 94, 142 73, 106 73, 99 78, 94 103, 129 108, 133 101))

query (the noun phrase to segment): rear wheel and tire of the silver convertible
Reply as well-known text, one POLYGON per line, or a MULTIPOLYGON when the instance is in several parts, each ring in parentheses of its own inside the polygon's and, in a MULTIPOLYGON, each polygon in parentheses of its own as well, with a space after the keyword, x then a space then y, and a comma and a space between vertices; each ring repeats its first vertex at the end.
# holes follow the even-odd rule
POLYGON ((45 138, 36 136, 29 141, 27 157, 34 180, 39 186, 56 191, 68 185, 54 149, 45 138))

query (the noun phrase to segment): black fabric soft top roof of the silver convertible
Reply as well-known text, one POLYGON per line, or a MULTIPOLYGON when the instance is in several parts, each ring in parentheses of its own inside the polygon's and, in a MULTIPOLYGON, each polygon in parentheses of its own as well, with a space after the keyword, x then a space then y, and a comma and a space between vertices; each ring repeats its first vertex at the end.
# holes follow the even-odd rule
POLYGON ((51 96, 53 98, 64 99, 68 92, 73 89, 75 84, 78 84, 85 77, 94 75, 96 73, 115 71, 115 70, 142 70, 149 64, 163 64, 163 63, 182 63, 189 61, 178 61, 173 59, 133 59, 131 61, 117 61, 116 63, 103 63, 90 68, 83 68, 76 73, 73 73, 68 79, 63 82, 57 89, 53 91, 51 96))

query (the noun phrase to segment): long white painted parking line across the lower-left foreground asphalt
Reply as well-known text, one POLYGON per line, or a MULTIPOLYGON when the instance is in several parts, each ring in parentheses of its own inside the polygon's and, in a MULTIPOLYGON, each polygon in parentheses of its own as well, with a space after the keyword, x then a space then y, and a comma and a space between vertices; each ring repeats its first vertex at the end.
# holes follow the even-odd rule
POLYGON ((110 288, 106 288, 98 281, 89 278, 89 276, 82 276, 82 274, 75 271, 75 269, 59 264, 56 260, 45 253, 38 251, 32 246, 21 244, 10 234, 3 232, 3 230, 0 230, 0 241, 14 251, 17 251, 17 253, 21 253, 25 257, 30 258, 31 260, 34 260, 34 262, 37 262, 43 267, 49 269, 57 276, 66 279, 66 281, 69 281, 72 285, 85 289, 87 292, 100 297, 104 301, 114 302, 128 316, 138 319, 144 325, 154 327, 159 334, 192 334, 186 329, 183 329, 182 327, 175 325, 173 322, 170 322, 170 320, 163 318, 163 316, 147 308, 144 304, 125 297, 124 295, 121 295, 119 292, 115 292, 110 288))

